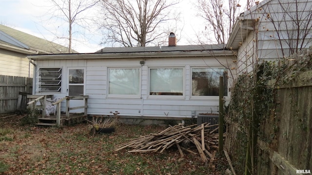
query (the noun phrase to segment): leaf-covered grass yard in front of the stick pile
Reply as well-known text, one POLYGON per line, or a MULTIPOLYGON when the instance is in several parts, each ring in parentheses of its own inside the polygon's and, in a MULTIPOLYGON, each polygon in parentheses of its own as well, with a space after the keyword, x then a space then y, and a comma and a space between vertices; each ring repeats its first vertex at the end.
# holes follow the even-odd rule
POLYGON ((92 136, 88 123, 62 128, 21 126, 15 118, 0 123, 0 136, 7 138, 0 140, 0 173, 7 175, 223 175, 228 168, 224 156, 203 163, 198 155, 181 158, 176 148, 162 154, 114 151, 129 139, 165 129, 156 125, 119 124, 112 134, 92 136))

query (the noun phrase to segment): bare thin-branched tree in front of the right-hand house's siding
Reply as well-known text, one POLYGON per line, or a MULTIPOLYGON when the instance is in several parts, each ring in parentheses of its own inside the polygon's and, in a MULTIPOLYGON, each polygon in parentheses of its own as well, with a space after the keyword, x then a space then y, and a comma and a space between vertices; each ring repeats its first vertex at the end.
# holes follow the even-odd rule
POLYGON ((280 57, 288 57, 293 53, 309 47, 312 41, 312 5, 311 0, 277 0, 276 4, 264 7, 261 12, 268 20, 265 35, 276 41, 281 49, 280 57), (276 12, 280 9, 280 13, 276 12))

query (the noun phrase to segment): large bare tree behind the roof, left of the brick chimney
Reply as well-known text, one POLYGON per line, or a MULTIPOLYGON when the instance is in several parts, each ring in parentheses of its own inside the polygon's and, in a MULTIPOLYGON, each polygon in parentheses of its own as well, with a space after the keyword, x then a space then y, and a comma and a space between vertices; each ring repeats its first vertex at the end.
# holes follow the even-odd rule
POLYGON ((169 31, 161 27, 177 16, 169 10, 178 2, 171 0, 102 0, 105 42, 124 47, 146 46, 164 41, 169 31), (173 16, 171 16, 173 15, 173 16))

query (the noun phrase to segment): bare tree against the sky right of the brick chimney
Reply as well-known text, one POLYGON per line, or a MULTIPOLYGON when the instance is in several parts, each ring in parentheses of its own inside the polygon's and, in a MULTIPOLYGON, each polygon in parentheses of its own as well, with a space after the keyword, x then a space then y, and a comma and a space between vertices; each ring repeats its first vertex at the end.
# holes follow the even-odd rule
POLYGON ((197 0, 199 16, 207 22, 205 31, 212 43, 226 43, 241 6, 239 0, 197 0), (211 38, 213 35, 214 38, 211 38))

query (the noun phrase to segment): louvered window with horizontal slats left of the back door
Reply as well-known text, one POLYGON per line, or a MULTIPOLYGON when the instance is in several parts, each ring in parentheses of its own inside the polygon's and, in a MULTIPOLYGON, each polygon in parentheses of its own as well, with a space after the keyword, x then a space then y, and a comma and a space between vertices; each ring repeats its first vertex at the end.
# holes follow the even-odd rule
POLYGON ((40 68, 37 78, 39 92, 60 92, 62 68, 40 68))

